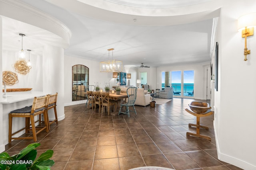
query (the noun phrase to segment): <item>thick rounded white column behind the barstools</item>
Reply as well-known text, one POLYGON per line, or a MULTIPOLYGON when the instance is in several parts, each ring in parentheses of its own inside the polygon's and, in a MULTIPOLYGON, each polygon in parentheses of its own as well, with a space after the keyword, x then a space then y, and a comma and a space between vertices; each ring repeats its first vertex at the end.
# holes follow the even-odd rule
MULTIPOLYGON (((46 45, 43 48, 43 92, 58 92, 58 121, 65 118, 64 114, 64 49, 46 45)), ((49 110, 49 120, 54 119, 53 109, 49 110)))

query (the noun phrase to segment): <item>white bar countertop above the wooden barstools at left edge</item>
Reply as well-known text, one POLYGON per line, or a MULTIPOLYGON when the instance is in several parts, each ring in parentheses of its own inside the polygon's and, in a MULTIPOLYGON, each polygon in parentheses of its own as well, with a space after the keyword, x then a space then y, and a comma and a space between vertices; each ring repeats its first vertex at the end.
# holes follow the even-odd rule
POLYGON ((7 98, 0 98, 1 104, 10 104, 24 100, 33 99, 34 97, 45 96, 43 92, 26 91, 26 92, 7 92, 7 98))

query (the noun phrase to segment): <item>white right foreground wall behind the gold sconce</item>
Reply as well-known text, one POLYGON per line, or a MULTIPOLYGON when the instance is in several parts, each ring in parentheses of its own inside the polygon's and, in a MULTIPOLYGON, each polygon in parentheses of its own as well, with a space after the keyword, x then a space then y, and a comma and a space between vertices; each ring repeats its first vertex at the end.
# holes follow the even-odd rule
POLYGON ((237 31, 239 16, 256 12, 255 0, 223 1, 218 24, 219 83, 215 92, 215 136, 218 158, 242 169, 256 170, 256 32, 244 38, 237 31))

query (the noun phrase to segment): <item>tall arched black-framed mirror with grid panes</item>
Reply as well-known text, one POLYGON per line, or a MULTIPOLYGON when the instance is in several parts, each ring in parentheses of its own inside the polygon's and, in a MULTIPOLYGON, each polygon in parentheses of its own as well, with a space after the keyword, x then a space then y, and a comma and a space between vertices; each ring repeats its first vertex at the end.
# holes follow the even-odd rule
POLYGON ((86 99, 85 87, 89 85, 89 68, 84 65, 72 66, 72 101, 86 99))

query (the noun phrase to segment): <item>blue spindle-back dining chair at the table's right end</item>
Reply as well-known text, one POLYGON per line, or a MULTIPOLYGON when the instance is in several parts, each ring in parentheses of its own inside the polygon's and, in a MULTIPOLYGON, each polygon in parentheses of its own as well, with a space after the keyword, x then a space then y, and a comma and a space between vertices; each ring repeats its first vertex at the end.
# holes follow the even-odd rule
POLYGON ((118 115, 120 113, 124 113, 124 114, 127 114, 128 117, 130 117, 130 111, 134 111, 135 114, 137 115, 136 109, 134 107, 134 104, 135 104, 135 101, 136 101, 136 96, 137 96, 137 90, 138 90, 138 88, 136 88, 136 87, 130 87, 126 90, 126 93, 128 95, 128 100, 126 100, 125 103, 120 104, 120 109, 119 109, 118 115), (126 107, 125 112, 121 111, 123 106, 126 107), (132 106, 134 110, 130 110, 129 106, 132 106))

